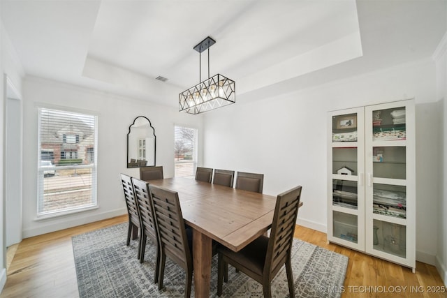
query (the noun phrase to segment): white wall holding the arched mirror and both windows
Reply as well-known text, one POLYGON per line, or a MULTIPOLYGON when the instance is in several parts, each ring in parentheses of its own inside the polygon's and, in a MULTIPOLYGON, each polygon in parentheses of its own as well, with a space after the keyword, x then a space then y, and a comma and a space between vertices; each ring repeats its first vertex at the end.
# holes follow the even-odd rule
POLYGON ((26 186, 23 190, 24 238, 126 213, 119 173, 139 177, 138 169, 126 168, 126 135, 135 117, 145 116, 154 126, 156 164, 163 165, 165 177, 174 175, 174 124, 184 124, 199 130, 202 128, 202 117, 179 113, 174 108, 36 77, 24 80, 23 98, 23 185, 26 186), (36 220, 37 124, 40 105, 98 114, 98 209, 36 220))

